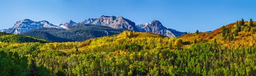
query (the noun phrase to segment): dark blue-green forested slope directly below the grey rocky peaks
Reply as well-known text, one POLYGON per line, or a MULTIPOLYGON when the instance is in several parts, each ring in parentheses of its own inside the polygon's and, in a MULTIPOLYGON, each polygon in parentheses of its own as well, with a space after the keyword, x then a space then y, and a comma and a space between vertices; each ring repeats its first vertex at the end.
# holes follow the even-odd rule
POLYGON ((69 30, 42 28, 33 31, 21 33, 22 35, 34 36, 37 38, 53 41, 53 42, 68 42, 68 41, 85 41, 96 37, 114 35, 123 30, 112 29, 107 26, 84 26, 77 25, 69 30))

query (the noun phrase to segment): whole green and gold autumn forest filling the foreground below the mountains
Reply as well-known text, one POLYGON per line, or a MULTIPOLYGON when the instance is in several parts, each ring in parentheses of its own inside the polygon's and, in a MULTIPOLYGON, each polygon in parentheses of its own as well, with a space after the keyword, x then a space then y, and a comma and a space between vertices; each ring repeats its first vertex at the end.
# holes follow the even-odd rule
POLYGON ((171 38, 124 31, 84 42, 2 41, 0 75, 256 75, 254 28, 242 19, 171 38))

